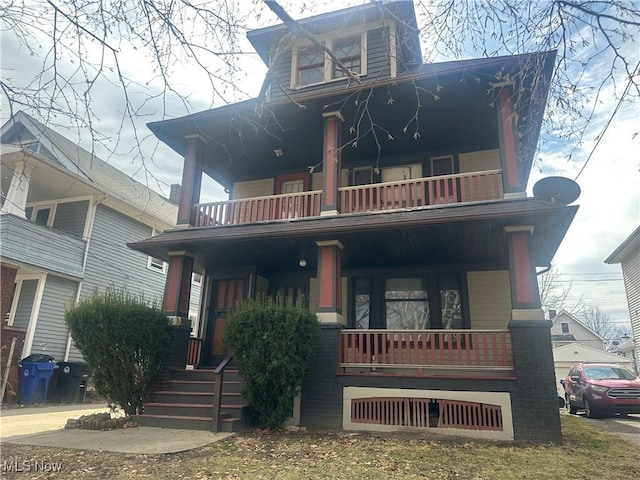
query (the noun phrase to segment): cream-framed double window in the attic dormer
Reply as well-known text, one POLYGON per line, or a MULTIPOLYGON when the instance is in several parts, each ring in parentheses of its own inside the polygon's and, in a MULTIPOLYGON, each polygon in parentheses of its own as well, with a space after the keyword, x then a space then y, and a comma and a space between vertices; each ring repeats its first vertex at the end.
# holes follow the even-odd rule
MULTIPOLYGON (((366 75, 366 32, 324 40, 324 45, 354 75, 366 75)), ((303 45, 294 48, 291 85, 306 87, 331 80, 346 78, 337 63, 317 45, 303 45)))

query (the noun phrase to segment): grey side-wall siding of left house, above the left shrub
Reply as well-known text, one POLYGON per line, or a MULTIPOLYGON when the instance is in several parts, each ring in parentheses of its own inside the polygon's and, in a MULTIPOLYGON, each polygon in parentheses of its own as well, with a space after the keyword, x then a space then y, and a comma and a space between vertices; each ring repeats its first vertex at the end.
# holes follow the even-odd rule
POLYGON ((147 255, 131 250, 127 243, 152 235, 152 228, 109 207, 96 209, 91 242, 82 284, 82 298, 94 289, 126 288, 144 295, 146 300, 161 302, 166 276, 147 268, 147 255))

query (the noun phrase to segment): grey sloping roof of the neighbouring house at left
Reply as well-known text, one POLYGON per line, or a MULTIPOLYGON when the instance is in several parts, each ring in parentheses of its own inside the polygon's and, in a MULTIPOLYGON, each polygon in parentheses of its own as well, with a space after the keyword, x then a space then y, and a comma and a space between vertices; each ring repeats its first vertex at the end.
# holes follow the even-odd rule
POLYGON ((25 112, 16 113, 12 120, 3 125, 2 136, 18 124, 24 126, 55 157, 55 161, 42 158, 43 161, 52 164, 57 162, 79 179, 89 182, 109 196, 165 224, 175 225, 177 206, 174 203, 25 112))

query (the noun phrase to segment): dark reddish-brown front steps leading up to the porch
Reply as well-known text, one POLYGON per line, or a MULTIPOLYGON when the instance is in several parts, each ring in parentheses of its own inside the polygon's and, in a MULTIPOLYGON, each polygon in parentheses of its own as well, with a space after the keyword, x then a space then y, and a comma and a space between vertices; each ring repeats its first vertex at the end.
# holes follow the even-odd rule
MULTIPOLYGON (((220 431, 235 432, 246 427, 242 386, 236 370, 225 371, 220 431)), ((145 402, 144 413, 136 416, 136 422, 148 427, 213 430, 214 400, 213 370, 170 370, 168 380, 145 402)))

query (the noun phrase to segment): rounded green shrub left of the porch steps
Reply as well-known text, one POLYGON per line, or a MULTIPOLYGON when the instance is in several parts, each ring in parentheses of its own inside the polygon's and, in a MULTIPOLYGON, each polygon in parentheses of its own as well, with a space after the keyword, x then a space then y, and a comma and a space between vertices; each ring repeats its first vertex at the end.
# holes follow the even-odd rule
POLYGON ((141 413, 171 348, 166 315, 144 298, 107 289, 70 306, 65 322, 93 368, 96 391, 127 415, 141 413))

